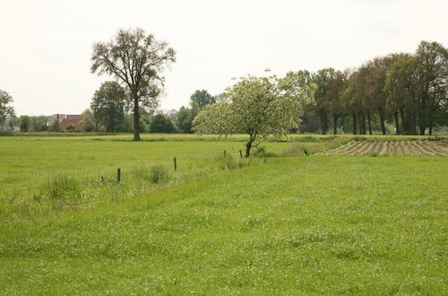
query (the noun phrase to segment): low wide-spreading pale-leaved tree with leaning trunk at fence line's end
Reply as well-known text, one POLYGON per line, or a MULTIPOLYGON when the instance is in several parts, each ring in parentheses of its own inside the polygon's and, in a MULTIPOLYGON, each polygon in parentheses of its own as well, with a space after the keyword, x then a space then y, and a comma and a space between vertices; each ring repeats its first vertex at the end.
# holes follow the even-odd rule
POLYGON ((297 127, 304 106, 312 100, 314 84, 303 83, 302 77, 253 77, 242 79, 229 88, 226 100, 209 105, 194 118, 194 129, 200 133, 230 135, 244 133, 246 157, 263 138, 286 135, 297 127))

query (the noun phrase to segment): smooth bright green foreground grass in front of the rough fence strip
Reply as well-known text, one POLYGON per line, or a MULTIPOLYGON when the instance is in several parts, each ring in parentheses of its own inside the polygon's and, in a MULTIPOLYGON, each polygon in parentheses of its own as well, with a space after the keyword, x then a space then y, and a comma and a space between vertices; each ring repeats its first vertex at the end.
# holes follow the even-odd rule
POLYGON ((0 292, 444 294, 446 158, 272 158, 5 225, 0 292))

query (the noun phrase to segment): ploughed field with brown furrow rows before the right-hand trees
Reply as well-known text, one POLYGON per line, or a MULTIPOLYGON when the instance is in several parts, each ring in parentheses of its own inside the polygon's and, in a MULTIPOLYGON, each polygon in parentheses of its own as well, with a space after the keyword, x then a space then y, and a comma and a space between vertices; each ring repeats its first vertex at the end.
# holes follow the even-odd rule
POLYGON ((448 156, 448 141, 354 141, 326 155, 448 156))

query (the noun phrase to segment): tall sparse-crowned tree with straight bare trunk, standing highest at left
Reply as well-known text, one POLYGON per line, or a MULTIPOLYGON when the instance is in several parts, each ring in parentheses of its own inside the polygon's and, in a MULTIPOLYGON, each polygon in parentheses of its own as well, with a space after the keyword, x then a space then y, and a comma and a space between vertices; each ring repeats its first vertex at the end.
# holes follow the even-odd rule
POLYGON ((93 46, 92 73, 111 74, 125 83, 133 105, 134 141, 140 141, 141 107, 155 109, 163 88, 163 70, 176 61, 167 42, 146 35, 144 30, 119 30, 115 39, 93 46))

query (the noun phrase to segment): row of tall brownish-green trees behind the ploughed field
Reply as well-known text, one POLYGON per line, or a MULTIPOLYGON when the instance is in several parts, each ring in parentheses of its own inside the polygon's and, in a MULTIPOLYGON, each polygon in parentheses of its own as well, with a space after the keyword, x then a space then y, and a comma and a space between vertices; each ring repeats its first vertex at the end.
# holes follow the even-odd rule
POLYGON ((439 43, 422 41, 414 54, 376 57, 358 69, 303 73, 317 88, 302 132, 327 134, 332 125, 333 134, 340 127, 385 135, 391 124, 397 135, 431 135, 448 124, 448 50, 439 43))

